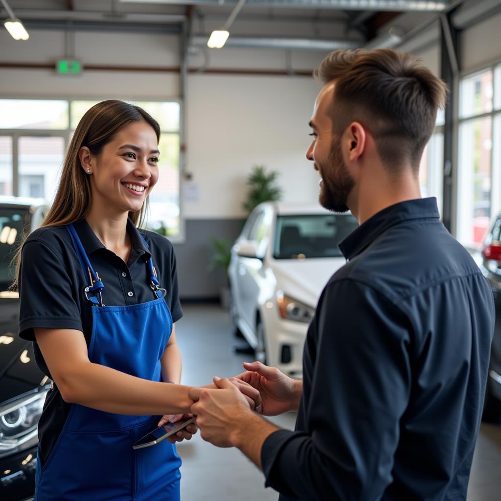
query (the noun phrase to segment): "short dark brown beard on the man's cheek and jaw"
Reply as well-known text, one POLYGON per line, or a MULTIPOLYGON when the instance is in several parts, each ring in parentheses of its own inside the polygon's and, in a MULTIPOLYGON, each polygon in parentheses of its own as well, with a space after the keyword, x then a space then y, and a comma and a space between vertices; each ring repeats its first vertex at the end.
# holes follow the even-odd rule
POLYGON ((341 141, 334 139, 327 161, 325 164, 317 165, 322 175, 322 185, 319 195, 320 204, 334 212, 346 212, 349 210, 346 202, 355 184, 344 163, 340 146, 341 141))

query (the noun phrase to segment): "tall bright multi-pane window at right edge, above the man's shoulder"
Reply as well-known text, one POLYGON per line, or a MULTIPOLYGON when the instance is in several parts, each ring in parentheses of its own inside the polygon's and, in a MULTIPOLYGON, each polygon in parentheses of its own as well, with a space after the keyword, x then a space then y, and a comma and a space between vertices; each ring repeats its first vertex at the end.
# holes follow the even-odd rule
POLYGON ((459 85, 458 240, 477 247, 501 209, 501 65, 466 75, 459 85))

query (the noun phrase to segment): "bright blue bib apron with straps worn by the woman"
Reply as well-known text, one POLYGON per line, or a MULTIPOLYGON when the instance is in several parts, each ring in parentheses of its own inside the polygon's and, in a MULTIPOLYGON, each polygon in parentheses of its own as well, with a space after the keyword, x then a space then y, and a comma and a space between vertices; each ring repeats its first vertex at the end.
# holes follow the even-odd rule
MULTIPOLYGON (((89 360, 160 381, 160 358, 172 331, 172 317, 151 258, 146 265, 156 299, 131 306, 104 306, 104 285, 75 228, 72 224, 67 228, 85 276, 93 277, 84 291, 94 305, 89 360)), ((156 426, 157 419, 73 404, 47 461, 43 466, 37 463, 35 501, 178 501, 181 459, 175 445, 164 440, 132 449, 136 440, 156 426)))

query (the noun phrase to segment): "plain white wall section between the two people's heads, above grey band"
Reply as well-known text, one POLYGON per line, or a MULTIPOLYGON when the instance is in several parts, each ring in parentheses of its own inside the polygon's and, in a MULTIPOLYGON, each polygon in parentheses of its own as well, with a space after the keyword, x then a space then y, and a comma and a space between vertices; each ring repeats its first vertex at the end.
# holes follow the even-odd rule
POLYGON ((199 201, 192 218, 242 216, 253 165, 280 172, 284 200, 318 199, 318 173, 305 153, 320 89, 312 78, 191 75, 187 89, 187 167, 199 201))

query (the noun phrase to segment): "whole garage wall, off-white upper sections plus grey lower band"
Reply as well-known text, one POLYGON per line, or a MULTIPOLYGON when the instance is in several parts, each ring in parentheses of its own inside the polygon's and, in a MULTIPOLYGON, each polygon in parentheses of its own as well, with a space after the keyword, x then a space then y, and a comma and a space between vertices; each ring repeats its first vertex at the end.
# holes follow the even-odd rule
MULTIPOLYGON (((501 57, 501 16, 462 34, 463 69, 501 57)), ((0 62, 47 63, 66 56, 63 31, 31 30, 29 45, 13 43, 0 30, 0 62)), ((405 49, 405 47, 403 47, 405 49)), ((436 74, 438 41, 415 50, 436 74)), ((317 203, 318 174, 305 158, 308 120, 319 84, 301 76, 240 75, 236 70, 311 71, 319 52, 275 49, 203 49, 189 58, 190 68, 233 69, 235 74, 189 73, 186 86, 185 171, 181 186, 184 241, 175 243, 182 298, 216 297, 223 274, 209 274, 209 237, 232 240, 241 228, 245 178, 254 165, 277 170, 284 201, 317 203), (186 198, 188 190, 190 196, 186 198)), ((178 37, 139 33, 75 33, 75 58, 85 64, 175 67, 178 37)), ((77 77, 55 71, 0 68, 0 96, 176 99, 178 74, 167 71, 85 71, 77 77)))

